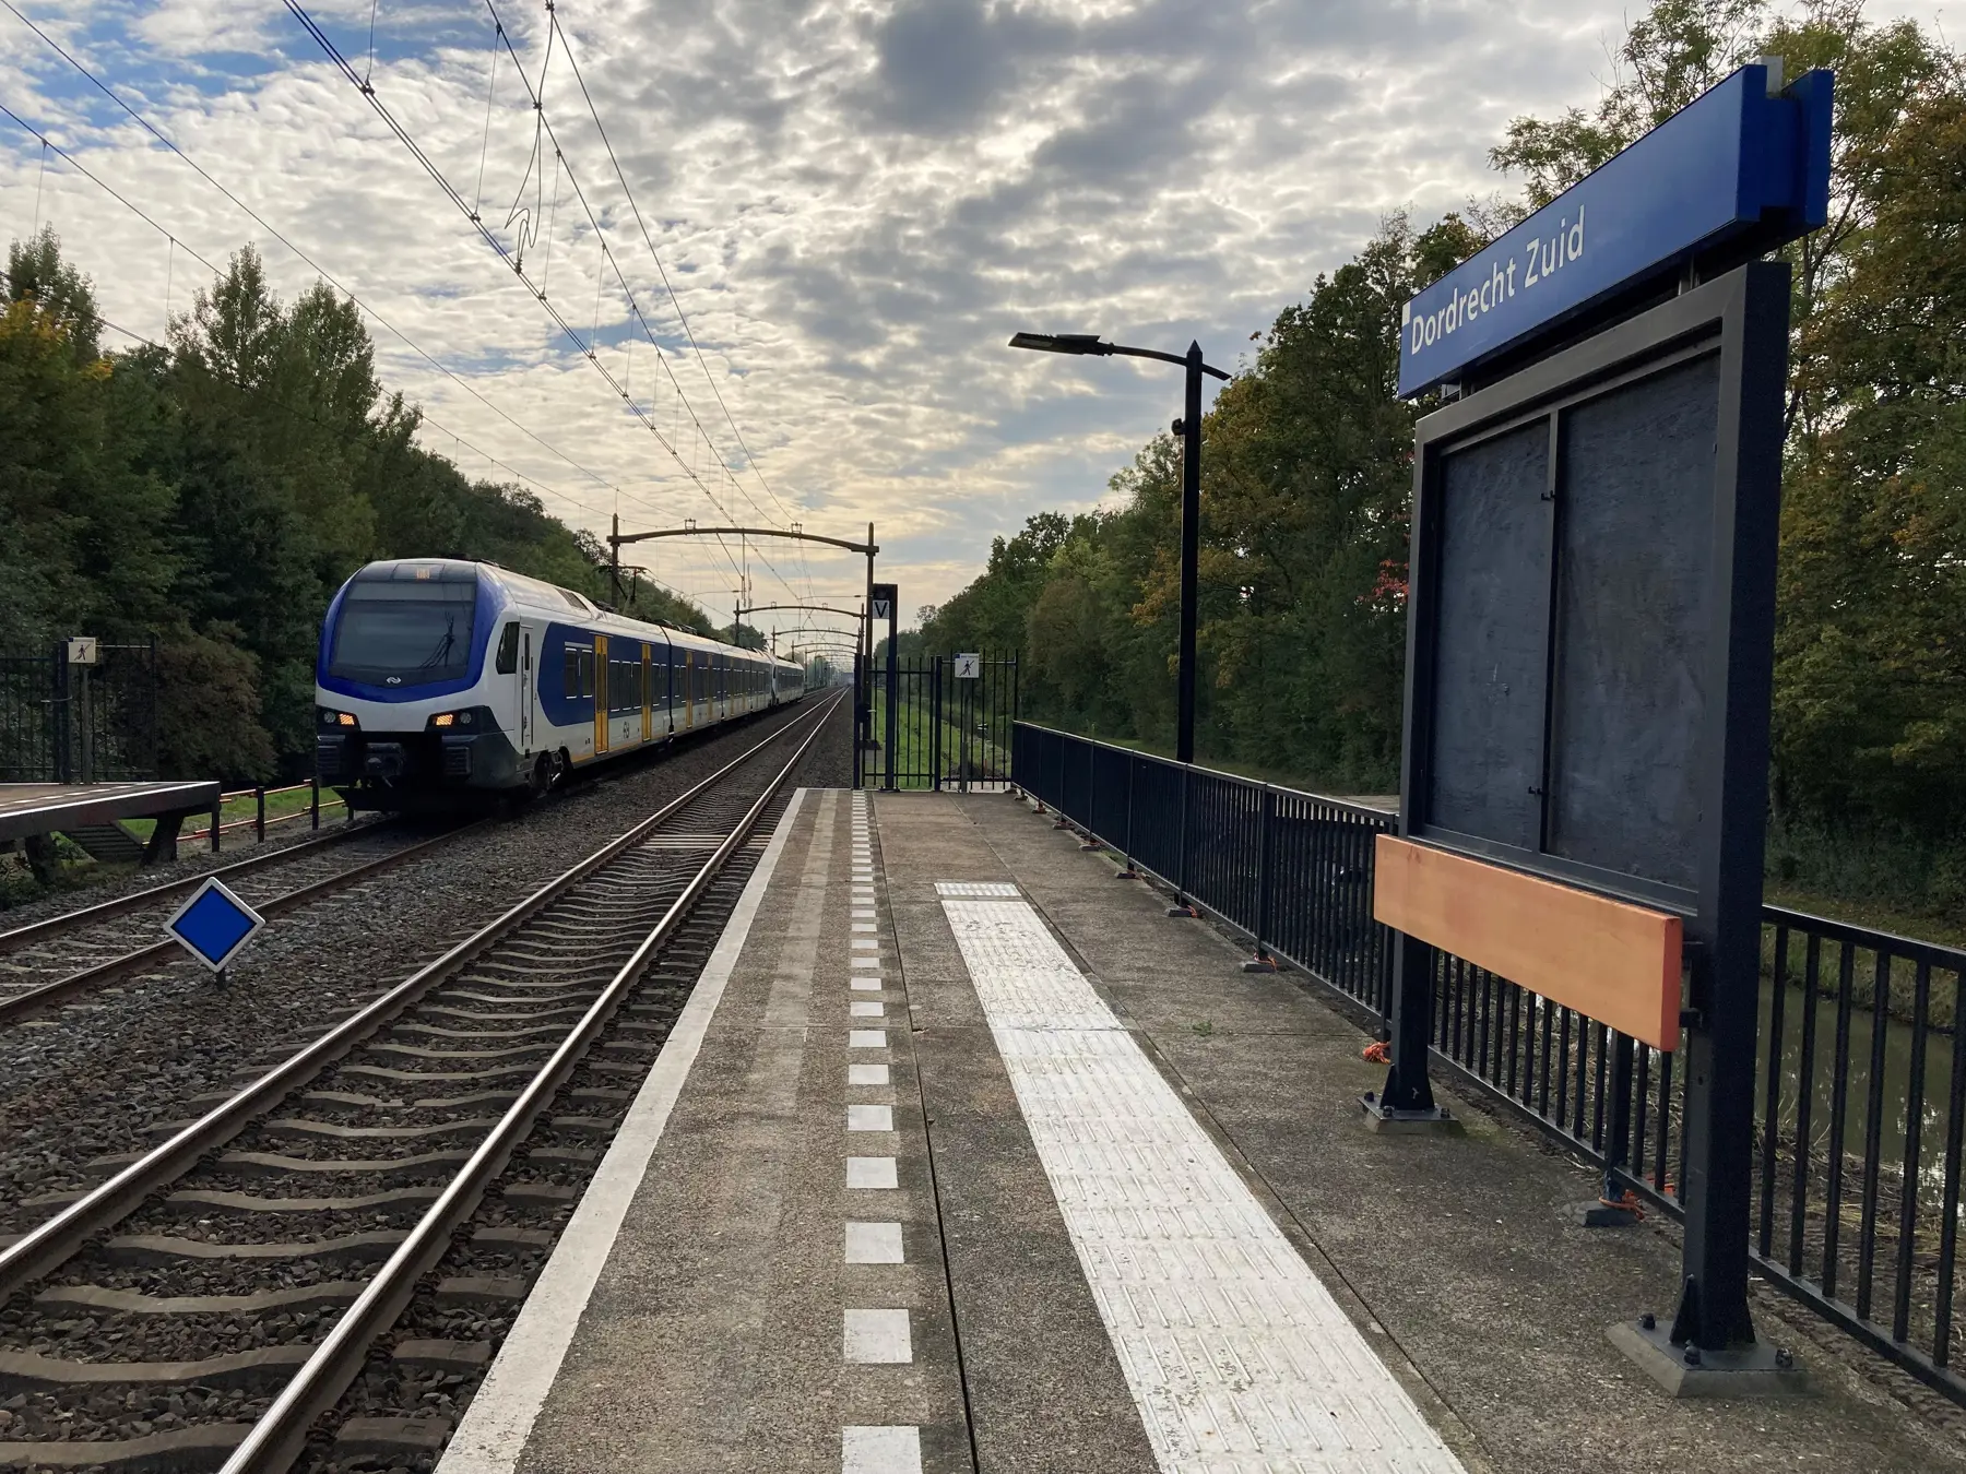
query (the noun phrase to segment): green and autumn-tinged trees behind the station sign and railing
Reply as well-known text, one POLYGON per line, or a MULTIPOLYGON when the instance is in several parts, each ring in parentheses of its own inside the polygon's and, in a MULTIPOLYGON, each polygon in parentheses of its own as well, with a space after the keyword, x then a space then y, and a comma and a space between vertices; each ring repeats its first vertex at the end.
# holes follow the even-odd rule
MULTIPOLYGON (((1594 108, 1508 126, 1490 159, 1522 181, 1518 198, 1419 232, 1390 220, 1258 334, 1203 426, 1203 761, 1390 788, 1414 415, 1392 397, 1400 305, 1760 55, 1789 77, 1836 71, 1830 224, 1787 250, 1773 800, 1789 839, 1775 853, 1803 880, 1821 871, 1866 894, 1895 861, 1797 857, 1919 855, 1907 896, 1956 904, 1966 61, 1913 22, 1872 24, 1862 0, 1655 0, 1594 108)), ((936 651, 1020 647, 1028 715, 1170 749, 1178 446, 1156 436, 1111 491, 1111 511, 1042 513, 999 539, 981 578, 924 611, 924 637, 936 651)))

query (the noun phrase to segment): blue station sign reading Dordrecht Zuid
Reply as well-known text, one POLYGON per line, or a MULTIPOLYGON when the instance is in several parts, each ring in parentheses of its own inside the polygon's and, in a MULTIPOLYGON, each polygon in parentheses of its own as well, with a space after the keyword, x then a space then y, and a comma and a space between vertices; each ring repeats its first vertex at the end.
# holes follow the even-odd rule
MULTIPOLYGON (((1400 312, 1400 397, 1461 375, 1648 277, 1828 220, 1830 83, 1750 63, 1474 254, 1400 312)), ((1736 255, 1734 259, 1744 259, 1736 255)))

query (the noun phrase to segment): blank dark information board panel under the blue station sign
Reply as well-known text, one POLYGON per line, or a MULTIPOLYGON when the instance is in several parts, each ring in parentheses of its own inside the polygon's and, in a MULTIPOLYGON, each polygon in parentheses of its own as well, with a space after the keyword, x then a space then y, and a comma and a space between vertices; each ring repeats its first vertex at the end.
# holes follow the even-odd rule
POLYGON ((1406 833, 1697 910, 1728 637, 1767 613, 1726 554, 1744 515, 1773 529, 1777 478, 1744 480, 1742 446, 1779 452, 1779 425, 1742 423, 1742 381, 1779 385, 1750 301, 1775 277, 1730 273, 1419 423, 1406 833))

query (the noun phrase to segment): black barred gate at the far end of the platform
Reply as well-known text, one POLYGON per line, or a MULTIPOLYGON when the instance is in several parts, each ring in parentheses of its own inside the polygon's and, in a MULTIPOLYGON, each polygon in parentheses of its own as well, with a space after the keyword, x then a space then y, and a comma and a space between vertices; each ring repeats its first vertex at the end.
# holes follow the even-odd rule
POLYGON ((875 666, 869 788, 969 792, 1011 780, 1011 725, 1016 721, 1016 654, 934 654, 904 660, 887 690, 875 666), (889 743, 889 704, 895 739, 889 743))

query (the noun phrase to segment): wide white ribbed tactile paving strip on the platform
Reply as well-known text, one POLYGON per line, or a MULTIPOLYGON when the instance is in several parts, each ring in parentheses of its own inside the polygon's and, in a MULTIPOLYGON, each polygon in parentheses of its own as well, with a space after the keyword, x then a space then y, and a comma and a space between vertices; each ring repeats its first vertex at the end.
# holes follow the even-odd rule
POLYGON ((942 908, 1160 1468, 1461 1474, 1038 914, 942 908))

